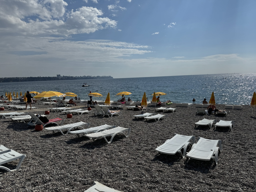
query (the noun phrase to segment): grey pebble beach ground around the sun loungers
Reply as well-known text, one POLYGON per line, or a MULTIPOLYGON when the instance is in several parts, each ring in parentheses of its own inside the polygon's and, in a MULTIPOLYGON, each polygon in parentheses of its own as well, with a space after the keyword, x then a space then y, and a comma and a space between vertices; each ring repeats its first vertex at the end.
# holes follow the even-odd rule
MULTIPOLYGON (((38 110, 22 110, 44 114, 49 106, 37 105, 38 110)), ((54 107, 54 106, 53 106, 54 107)), ((160 106, 149 105, 146 112, 153 113, 160 106)), ((48 119, 65 119, 63 124, 89 122, 89 127, 103 124, 131 127, 129 137, 116 135, 111 144, 103 138, 90 140, 74 134, 63 136, 60 132, 35 131, 34 126, 1 119, 0 145, 26 157, 14 172, 0 169, 0 191, 76 191, 90 188, 94 181, 119 191, 255 191, 256 115, 248 105, 242 110, 227 109, 228 115, 196 115, 195 105, 167 107, 177 112, 167 114, 165 120, 155 122, 137 119, 140 111, 121 109, 122 115, 101 117, 92 114, 73 115, 53 112, 48 119), (228 127, 195 127, 202 119, 234 121, 228 127), (194 135, 221 140, 222 151, 218 164, 211 161, 181 158, 179 154, 167 155, 155 151, 176 134, 194 135)), ((217 104, 218 109, 224 105, 217 104)), ((86 110, 84 103, 79 109, 86 110)), ((95 109, 92 109, 93 112, 95 109)), ((17 111, 7 110, 4 112, 17 111)), ((18 160, 4 164, 15 168, 18 160)))

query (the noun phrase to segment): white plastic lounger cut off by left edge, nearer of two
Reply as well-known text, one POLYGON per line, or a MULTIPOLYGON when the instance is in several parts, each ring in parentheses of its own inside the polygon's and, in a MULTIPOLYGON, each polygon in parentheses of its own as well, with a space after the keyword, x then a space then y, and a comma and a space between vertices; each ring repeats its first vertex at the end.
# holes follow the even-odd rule
POLYGON ((14 161, 14 160, 20 158, 19 163, 18 163, 18 165, 16 166, 15 169, 11 170, 11 169, 9 169, 9 168, 7 168, 5 166, 0 166, 0 168, 1 169, 5 169, 8 172, 15 171, 15 170, 17 170, 20 167, 20 165, 21 165, 21 163, 22 163, 22 161, 23 161, 23 159, 25 157, 26 157, 26 155, 20 154, 20 153, 18 153, 16 151, 13 151, 13 150, 8 150, 5 153, 0 153, 0 165, 8 163, 8 162, 11 162, 11 161, 14 161))

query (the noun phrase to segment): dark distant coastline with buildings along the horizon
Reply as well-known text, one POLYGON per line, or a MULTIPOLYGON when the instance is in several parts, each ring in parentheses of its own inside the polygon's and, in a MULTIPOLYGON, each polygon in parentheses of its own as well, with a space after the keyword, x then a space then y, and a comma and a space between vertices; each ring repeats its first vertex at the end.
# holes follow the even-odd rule
POLYGON ((57 77, 3 77, 1 83, 26 82, 26 81, 56 81, 56 80, 79 80, 79 79, 113 79, 111 76, 60 76, 57 77))

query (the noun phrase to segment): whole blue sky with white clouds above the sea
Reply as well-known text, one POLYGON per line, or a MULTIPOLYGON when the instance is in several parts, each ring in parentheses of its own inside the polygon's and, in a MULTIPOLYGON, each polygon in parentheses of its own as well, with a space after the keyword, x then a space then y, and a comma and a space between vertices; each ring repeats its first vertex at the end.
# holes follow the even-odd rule
POLYGON ((255 0, 0 0, 0 77, 256 72, 255 0))

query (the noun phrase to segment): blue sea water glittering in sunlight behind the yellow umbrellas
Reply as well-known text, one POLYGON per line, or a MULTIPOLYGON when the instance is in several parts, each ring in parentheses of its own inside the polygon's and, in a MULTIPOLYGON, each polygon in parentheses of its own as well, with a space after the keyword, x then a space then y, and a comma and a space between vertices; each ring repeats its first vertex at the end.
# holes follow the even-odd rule
POLYGON ((27 90, 72 92, 86 100, 90 91, 103 95, 96 100, 105 100, 110 92, 113 101, 121 98, 115 94, 122 91, 132 93, 126 95, 126 99, 141 101, 146 92, 148 100, 152 100, 151 94, 155 91, 167 93, 160 96, 161 101, 175 103, 192 103, 193 98, 196 99, 194 103, 202 103, 204 98, 209 101, 213 91, 217 104, 247 104, 256 91, 256 73, 0 83, 0 95, 5 95, 6 91, 24 94, 27 90), (85 82, 90 86, 82 87, 85 82))

